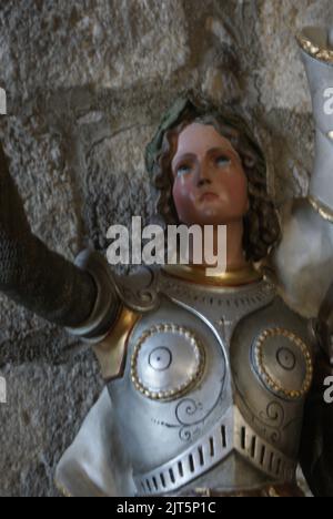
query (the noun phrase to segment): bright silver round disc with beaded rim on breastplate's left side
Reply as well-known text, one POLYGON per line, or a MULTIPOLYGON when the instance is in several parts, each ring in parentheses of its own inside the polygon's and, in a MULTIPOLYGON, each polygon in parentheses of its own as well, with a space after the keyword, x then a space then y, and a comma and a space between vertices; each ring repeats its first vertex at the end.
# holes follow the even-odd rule
POLYGON ((150 399, 173 400, 201 379, 204 360, 204 348, 191 330, 174 324, 155 325, 135 345, 132 381, 150 399))

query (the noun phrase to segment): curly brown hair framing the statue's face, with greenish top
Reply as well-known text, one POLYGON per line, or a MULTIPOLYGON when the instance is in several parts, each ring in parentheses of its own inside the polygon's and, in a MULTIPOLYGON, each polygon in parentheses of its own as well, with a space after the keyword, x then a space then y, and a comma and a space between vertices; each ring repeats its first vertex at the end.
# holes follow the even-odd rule
POLYGON ((154 140, 147 149, 147 167, 151 184, 158 192, 157 215, 165 225, 181 223, 173 202, 171 163, 180 133, 193 122, 213 125, 241 157, 250 200, 250 210, 244 216, 243 248, 249 261, 261 261, 278 243, 281 228, 274 203, 268 193, 263 152, 236 108, 215 108, 186 96, 178 100, 164 115, 154 140))

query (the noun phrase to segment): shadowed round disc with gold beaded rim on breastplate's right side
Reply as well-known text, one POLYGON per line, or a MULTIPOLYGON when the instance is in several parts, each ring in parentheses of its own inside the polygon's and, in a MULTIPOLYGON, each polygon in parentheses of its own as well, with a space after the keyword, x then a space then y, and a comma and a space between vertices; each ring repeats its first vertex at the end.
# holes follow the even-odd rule
POLYGON ((261 381, 275 395, 297 400, 309 391, 312 357, 295 334, 284 328, 265 329, 255 340, 252 353, 261 381))

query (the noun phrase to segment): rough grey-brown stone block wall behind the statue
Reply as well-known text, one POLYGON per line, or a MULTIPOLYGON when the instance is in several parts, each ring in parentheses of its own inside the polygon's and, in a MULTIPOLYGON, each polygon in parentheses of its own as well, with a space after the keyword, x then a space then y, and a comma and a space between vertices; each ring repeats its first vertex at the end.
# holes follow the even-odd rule
MULTIPOLYGON (((331 0, 1 2, 0 138, 33 231, 73 258, 104 250, 111 223, 149 218, 144 146, 189 86, 246 105, 278 205, 305 193, 313 126, 294 34, 332 17, 331 0)), ((1 297, 0 374, 0 496, 54 496, 102 387, 94 357, 1 297)))

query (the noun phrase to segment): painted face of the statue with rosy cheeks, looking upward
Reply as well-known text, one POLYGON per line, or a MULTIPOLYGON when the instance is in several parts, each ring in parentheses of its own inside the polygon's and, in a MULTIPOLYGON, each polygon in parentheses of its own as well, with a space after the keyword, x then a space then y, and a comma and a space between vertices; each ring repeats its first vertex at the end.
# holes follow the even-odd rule
POLYGON ((173 199, 186 225, 226 225, 249 210, 241 159, 212 125, 192 123, 179 135, 172 160, 173 199))

